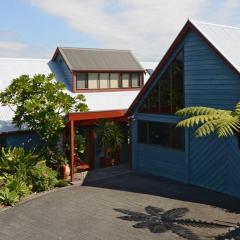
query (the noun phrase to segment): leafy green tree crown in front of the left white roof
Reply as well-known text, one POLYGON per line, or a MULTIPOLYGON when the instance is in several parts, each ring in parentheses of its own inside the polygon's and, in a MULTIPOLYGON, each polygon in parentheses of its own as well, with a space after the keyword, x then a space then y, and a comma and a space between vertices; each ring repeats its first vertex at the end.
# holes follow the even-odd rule
POLYGON ((47 144, 54 144, 65 127, 65 115, 72 111, 87 111, 83 95, 72 97, 53 74, 22 75, 0 92, 0 103, 15 113, 17 127, 27 125, 47 144))

